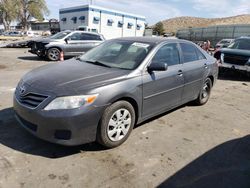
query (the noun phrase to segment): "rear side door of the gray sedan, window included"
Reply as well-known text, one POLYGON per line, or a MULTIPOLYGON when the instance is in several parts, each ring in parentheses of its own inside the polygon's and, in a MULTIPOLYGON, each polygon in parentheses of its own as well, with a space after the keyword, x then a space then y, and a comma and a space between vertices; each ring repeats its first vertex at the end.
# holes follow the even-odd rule
POLYGON ((208 65, 205 55, 194 44, 180 43, 180 47, 184 77, 182 103, 185 103, 198 97, 208 65))

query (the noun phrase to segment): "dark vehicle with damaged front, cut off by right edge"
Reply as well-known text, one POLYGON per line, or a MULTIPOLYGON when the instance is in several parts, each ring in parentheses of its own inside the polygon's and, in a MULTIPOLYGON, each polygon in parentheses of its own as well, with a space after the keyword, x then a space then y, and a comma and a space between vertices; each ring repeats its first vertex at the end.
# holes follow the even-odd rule
POLYGON ((250 37, 236 39, 228 48, 222 48, 214 55, 224 69, 237 69, 250 73, 250 37))

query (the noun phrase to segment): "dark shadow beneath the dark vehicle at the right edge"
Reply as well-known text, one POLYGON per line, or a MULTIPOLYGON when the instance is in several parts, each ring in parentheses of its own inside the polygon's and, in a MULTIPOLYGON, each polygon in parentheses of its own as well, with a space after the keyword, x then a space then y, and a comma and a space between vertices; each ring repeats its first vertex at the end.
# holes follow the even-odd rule
POLYGON ((232 70, 232 69, 220 68, 218 78, 220 80, 233 80, 233 81, 250 82, 250 74, 247 75, 246 72, 232 70))

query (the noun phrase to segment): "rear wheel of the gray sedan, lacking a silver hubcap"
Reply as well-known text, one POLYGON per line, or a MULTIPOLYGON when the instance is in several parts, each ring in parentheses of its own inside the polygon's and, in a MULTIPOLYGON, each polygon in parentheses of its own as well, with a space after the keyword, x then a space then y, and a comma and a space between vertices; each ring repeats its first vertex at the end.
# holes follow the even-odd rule
POLYGON ((207 101, 209 100, 211 89, 212 89, 212 81, 210 78, 206 78, 199 92, 199 96, 195 100, 195 103, 199 106, 206 104, 207 101))

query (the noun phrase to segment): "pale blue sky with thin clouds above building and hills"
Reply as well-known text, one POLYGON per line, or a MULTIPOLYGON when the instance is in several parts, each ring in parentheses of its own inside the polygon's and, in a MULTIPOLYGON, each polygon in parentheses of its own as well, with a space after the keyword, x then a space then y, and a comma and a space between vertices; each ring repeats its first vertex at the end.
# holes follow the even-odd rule
MULTIPOLYGON (((46 0, 50 15, 59 17, 59 9, 85 5, 90 0, 46 0)), ((179 16, 204 18, 228 17, 250 13, 250 0, 92 0, 94 5, 146 17, 149 25, 179 16)))

